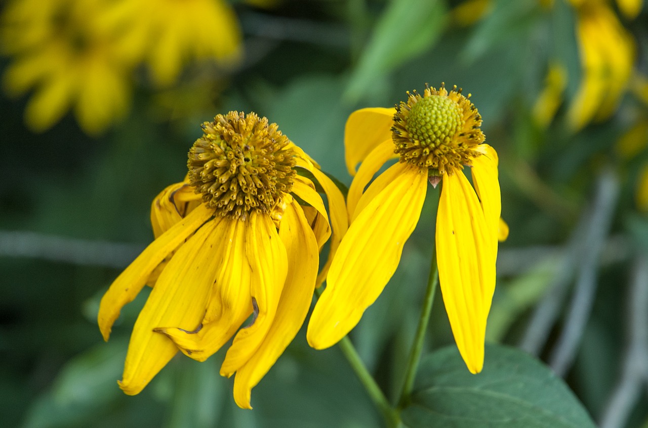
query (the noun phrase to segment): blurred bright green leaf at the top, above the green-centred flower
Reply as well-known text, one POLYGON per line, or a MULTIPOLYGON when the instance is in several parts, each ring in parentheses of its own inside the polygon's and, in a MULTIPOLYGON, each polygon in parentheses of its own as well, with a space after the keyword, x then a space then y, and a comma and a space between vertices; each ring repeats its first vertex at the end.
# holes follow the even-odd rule
POLYGON ((375 81, 432 47, 445 28, 445 17, 445 2, 440 0, 392 1, 351 74, 345 98, 356 102, 375 81))

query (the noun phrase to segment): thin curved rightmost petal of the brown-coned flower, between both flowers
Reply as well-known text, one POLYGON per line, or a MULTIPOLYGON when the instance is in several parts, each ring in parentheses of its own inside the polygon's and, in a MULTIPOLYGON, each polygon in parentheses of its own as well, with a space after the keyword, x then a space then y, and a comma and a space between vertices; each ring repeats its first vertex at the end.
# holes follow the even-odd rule
POLYGON ((318 275, 317 284, 319 286, 326 279, 330 264, 340 246, 340 241, 342 241, 344 234, 347 233, 349 220, 347 219, 347 208, 344 203, 344 195, 342 195, 338 186, 336 186, 325 173, 319 171, 319 169, 313 169, 312 173, 318 180, 319 185, 324 189, 327 199, 329 200, 330 222, 333 229, 330 237, 329 257, 318 275))

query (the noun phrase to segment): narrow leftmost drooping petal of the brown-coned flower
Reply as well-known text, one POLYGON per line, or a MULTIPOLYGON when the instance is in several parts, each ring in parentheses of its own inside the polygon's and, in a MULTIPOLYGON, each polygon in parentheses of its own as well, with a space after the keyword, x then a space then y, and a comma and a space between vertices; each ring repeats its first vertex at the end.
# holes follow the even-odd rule
POLYGON ((115 279, 101 299, 97 317, 104 340, 108 340, 110 337, 110 330, 119 317, 121 308, 135 299, 145 286, 150 273, 212 215, 213 210, 201 204, 185 219, 151 242, 137 259, 115 279))

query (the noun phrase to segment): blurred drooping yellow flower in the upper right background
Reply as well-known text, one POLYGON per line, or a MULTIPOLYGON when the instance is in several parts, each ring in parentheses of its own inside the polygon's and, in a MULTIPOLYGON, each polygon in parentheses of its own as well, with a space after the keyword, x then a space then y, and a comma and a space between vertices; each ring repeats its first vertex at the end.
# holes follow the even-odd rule
POLYGON ((604 120, 616 111, 632 75, 636 47, 631 34, 605 2, 571 1, 577 7, 583 75, 567 114, 570 127, 578 131, 592 120, 604 120))

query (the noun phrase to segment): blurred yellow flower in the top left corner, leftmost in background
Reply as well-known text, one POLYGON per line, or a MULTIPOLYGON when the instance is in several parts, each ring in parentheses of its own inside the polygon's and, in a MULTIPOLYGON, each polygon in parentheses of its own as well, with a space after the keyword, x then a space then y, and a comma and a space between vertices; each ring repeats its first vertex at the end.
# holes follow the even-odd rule
POLYGON ((27 125, 45 131, 73 109, 89 134, 104 131, 130 104, 132 65, 118 47, 121 34, 102 24, 103 0, 13 1, 2 16, 3 50, 14 56, 4 86, 34 89, 27 125))

